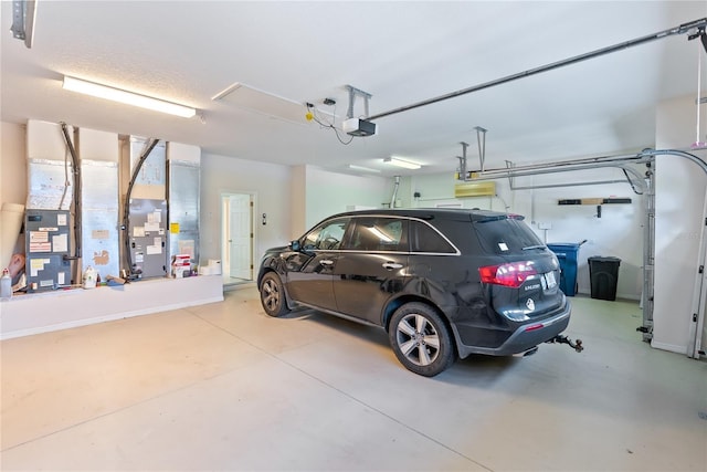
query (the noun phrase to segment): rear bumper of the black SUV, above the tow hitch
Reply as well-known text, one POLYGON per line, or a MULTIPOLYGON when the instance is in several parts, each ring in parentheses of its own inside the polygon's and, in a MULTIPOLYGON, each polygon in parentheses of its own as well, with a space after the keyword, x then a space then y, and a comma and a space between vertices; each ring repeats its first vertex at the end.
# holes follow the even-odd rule
POLYGON ((567 329, 570 323, 570 313, 571 305, 568 301, 559 314, 550 318, 530 322, 519 326, 508 339, 498 347, 467 346, 462 343, 458 336, 455 336, 460 358, 467 357, 469 354, 511 356, 514 354, 525 353, 539 344, 552 339, 567 329))

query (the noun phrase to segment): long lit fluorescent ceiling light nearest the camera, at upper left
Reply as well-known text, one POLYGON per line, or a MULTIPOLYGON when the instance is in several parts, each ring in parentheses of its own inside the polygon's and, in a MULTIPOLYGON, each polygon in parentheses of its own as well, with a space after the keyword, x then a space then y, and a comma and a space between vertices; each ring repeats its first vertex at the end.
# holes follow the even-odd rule
POLYGON ((140 108, 152 109, 155 112, 168 113, 183 118, 191 118, 197 114, 197 109, 189 106, 178 105, 176 103, 166 102, 151 96, 140 95, 120 88, 96 84, 95 82, 70 77, 67 75, 64 76, 63 87, 67 91, 97 96, 98 98, 110 99, 127 105, 139 106, 140 108))

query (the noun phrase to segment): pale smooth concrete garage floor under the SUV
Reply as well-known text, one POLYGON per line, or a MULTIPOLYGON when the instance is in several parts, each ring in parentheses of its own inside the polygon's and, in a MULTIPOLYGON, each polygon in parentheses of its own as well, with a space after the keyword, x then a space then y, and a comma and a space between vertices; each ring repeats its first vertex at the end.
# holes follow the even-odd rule
POLYGON ((432 379, 383 331, 222 303, 0 344, 12 470, 705 471, 707 363, 634 303, 573 297, 585 349, 473 356, 432 379))

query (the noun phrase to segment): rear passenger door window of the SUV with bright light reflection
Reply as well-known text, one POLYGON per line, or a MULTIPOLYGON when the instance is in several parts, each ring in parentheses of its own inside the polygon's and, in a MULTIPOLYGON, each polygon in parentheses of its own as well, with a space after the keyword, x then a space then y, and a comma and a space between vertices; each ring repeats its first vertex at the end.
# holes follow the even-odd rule
POLYGON ((363 217, 355 220, 350 244, 355 251, 408 252, 408 220, 387 217, 363 217))

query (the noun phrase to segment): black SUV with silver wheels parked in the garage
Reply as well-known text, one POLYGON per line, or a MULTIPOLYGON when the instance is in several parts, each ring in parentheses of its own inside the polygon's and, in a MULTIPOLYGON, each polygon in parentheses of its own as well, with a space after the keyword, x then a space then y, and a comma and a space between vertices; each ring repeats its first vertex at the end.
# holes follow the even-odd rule
POLYGON ((304 305, 382 326, 398 359, 434 376, 458 356, 523 355, 569 324, 556 255, 516 214, 352 211, 265 252, 265 313, 304 305))

